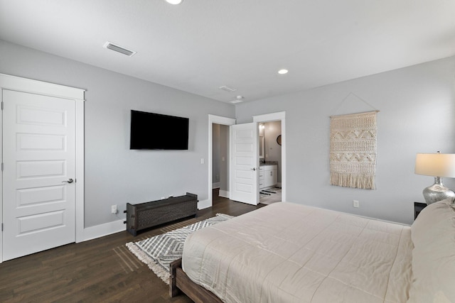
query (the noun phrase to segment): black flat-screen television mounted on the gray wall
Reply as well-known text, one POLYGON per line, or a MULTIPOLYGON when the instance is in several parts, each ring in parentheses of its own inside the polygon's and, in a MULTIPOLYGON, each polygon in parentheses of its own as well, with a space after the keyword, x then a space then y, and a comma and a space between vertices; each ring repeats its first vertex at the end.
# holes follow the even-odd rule
POLYGON ((189 119, 131 111, 131 150, 188 150, 189 119))

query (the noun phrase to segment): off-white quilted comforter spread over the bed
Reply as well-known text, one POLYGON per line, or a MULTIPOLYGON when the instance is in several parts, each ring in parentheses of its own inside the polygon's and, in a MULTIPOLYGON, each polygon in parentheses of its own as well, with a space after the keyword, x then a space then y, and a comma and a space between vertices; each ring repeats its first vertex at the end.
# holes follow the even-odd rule
POLYGON ((188 236, 183 270, 223 302, 406 302, 410 227, 282 202, 188 236))

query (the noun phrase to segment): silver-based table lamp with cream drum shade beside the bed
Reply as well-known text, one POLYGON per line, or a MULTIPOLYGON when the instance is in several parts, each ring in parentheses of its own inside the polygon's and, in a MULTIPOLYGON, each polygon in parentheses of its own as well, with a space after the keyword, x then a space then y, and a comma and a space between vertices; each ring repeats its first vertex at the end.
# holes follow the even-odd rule
POLYGON ((427 204, 432 204, 451 198, 455 200, 455 192, 442 184, 442 177, 455 177, 455 154, 451 153, 418 153, 415 158, 417 175, 434 177, 434 184, 424 189, 424 199, 427 204))

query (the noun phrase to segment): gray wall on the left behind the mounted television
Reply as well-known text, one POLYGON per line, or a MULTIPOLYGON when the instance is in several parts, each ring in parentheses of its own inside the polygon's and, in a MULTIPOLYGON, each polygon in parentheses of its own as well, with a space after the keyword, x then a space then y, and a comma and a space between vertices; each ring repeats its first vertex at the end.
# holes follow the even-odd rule
POLYGON ((87 89, 85 227, 124 218, 127 202, 185 192, 208 199, 208 114, 234 118, 234 106, 2 40, 0 72, 87 89), (189 149, 129 150, 131 109, 189 118, 189 149))

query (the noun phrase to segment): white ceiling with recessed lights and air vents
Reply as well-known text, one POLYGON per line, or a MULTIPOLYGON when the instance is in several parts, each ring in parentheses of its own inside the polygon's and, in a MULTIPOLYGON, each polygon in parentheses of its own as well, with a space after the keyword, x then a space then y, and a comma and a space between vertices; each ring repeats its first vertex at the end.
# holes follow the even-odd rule
POLYGON ((0 0, 0 39, 251 101, 454 55, 455 1, 0 0), (106 41, 137 54, 102 48, 106 41))

